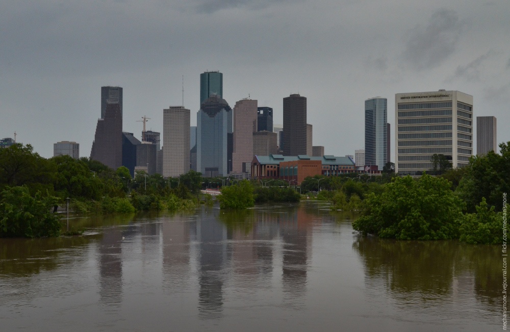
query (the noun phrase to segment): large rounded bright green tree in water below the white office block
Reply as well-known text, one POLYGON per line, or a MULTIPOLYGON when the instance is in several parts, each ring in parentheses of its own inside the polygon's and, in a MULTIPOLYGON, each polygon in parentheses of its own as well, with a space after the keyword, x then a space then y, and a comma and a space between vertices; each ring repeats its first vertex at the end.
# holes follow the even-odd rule
POLYGON ((381 195, 365 199, 362 216, 353 228, 363 234, 401 240, 458 238, 462 201, 450 190, 451 183, 423 174, 395 178, 381 195))

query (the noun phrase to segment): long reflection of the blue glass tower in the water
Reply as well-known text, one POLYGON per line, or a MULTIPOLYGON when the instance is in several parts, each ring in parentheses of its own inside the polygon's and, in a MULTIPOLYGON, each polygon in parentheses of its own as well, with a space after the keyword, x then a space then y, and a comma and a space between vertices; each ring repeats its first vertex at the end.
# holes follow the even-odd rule
POLYGON ((204 209, 197 221, 199 249, 198 309, 203 318, 221 316, 223 267, 226 263, 226 229, 218 222, 218 209, 204 209))

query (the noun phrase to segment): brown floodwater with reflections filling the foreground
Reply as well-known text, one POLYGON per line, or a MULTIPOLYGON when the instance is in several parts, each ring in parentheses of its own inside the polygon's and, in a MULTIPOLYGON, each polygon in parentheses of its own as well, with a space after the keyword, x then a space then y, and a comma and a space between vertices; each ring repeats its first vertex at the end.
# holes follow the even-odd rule
POLYGON ((0 330, 490 331, 499 246, 382 240, 320 202, 70 219, 0 239, 0 330))

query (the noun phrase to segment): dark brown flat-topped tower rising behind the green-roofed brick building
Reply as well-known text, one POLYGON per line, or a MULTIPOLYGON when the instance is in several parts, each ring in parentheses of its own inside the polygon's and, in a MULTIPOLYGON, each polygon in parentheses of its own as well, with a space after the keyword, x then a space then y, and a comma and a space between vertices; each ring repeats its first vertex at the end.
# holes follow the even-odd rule
MULTIPOLYGON (((283 154, 307 154, 307 98, 293 94, 284 98, 283 154)), ((282 147, 280 147, 282 148, 282 147)))

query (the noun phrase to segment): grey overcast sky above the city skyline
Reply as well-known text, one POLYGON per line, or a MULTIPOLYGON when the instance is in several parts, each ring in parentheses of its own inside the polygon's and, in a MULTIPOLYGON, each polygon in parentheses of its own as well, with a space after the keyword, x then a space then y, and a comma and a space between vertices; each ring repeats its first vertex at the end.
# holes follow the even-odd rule
MULTIPOLYGON (((0 136, 53 156, 90 156, 101 86, 123 88, 123 130, 163 131, 163 108, 199 109, 200 73, 223 73, 233 107, 249 96, 283 123, 283 98, 308 98, 313 144, 364 148, 365 99, 458 90, 510 141, 508 0, 3 0, 0 136)), ((476 150, 475 150, 476 151, 476 150)))

